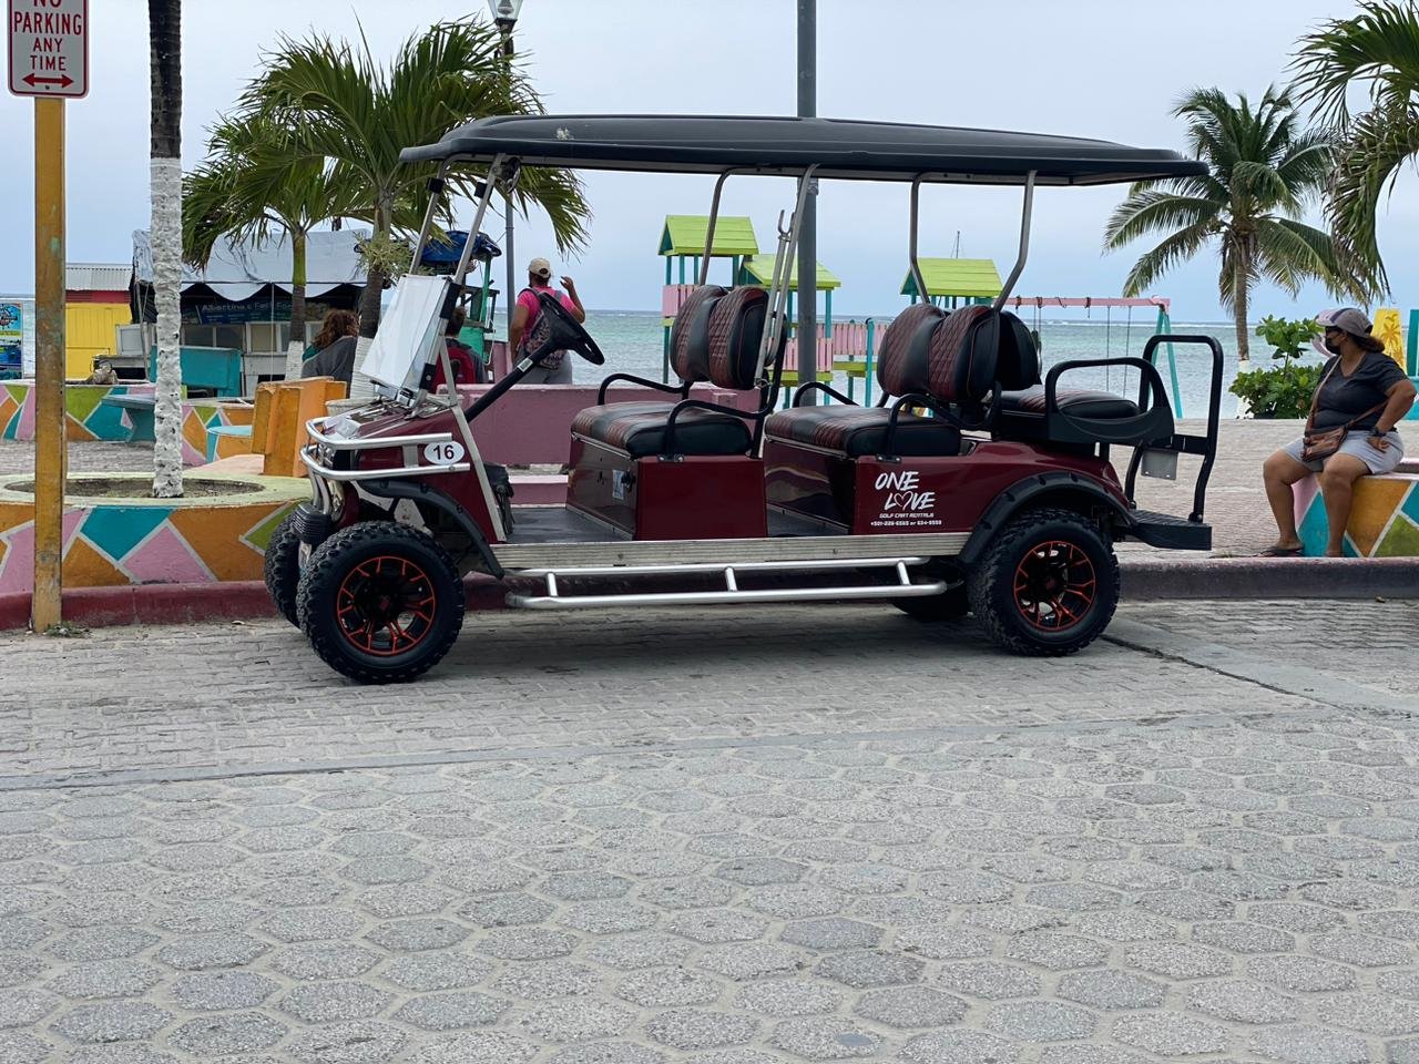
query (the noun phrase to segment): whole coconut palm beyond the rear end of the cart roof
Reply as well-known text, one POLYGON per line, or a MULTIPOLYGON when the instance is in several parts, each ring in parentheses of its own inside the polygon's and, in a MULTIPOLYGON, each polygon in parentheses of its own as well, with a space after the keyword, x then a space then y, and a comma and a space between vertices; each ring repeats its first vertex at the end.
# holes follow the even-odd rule
POLYGON ((1257 106, 1233 104, 1220 89, 1193 89, 1174 108, 1188 122, 1188 145, 1208 165, 1196 177, 1135 183, 1104 230, 1117 251, 1149 233, 1166 234, 1128 271, 1124 294, 1137 297, 1175 265, 1215 247, 1222 260, 1218 294, 1232 311, 1237 358, 1250 358, 1247 302, 1263 279, 1291 295, 1318 279, 1332 292, 1364 298, 1368 275, 1349 279, 1328 234, 1300 218, 1325 187, 1331 138, 1301 129, 1284 91, 1269 88, 1257 106))

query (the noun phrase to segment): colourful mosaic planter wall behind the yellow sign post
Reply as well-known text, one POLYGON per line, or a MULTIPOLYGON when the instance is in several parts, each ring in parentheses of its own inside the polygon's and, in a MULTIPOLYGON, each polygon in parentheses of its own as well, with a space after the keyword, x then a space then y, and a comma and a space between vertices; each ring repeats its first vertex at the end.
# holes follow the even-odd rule
MULTIPOLYGON (((71 484, 82 491, 84 480, 71 484)), ((309 497, 309 487, 295 480, 258 482, 260 491, 230 501, 71 499, 64 512, 64 584, 260 580, 271 533, 309 497)), ((28 592, 33 583, 34 504, 0 484, 0 594, 28 592)))

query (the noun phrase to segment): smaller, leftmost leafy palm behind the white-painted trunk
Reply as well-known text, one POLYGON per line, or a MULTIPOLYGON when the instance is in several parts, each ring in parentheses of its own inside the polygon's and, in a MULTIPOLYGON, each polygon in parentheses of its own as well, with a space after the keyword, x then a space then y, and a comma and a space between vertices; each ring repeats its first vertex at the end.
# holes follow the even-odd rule
POLYGON ((183 182, 183 253, 206 265, 219 240, 291 241, 291 339, 285 376, 301 376, 305 349, 305 248, 314 228, 360 213, 358 183, 345 163, 311 156, 297 131, 251 112, 211 131, 207 160, 183 182))

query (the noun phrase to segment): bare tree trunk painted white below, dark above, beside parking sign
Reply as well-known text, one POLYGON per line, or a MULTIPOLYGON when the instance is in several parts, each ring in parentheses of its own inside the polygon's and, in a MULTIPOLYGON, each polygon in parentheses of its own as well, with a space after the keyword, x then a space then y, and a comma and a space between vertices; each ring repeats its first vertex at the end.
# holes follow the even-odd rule
POLYGON ((152 250, 158 305, 153 495, 182 495, 182 0, 148 0, 152 250))

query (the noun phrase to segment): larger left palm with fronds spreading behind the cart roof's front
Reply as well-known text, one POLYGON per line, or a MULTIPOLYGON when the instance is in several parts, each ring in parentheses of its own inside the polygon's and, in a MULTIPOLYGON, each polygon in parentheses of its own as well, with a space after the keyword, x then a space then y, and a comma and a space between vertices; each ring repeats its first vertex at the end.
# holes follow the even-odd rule
MULTIPOLYGON (((542 104, 524 74, 501 57, 495 28, 475 18, 441 23, 410 37, 394 60, 380 65, 360 37, 358 48, 312 35, 284 38, 243 104, 284 115, 302 131, 314 155, 349 165, 373 226, 366 251, 369 278, 360 299, 360 340, 352 392, 370 393, 359 372, 379 326, 379 298, 396 254, 390 240, 403 227, 399 213, 424 194, 433 163, 406 166, 399 153, 438 140, 454 126, 485 115, 541 113, 542 104)), ((467 193, 463 180, 454 184, 467 193)), ((589 217, 580 184, 570 174, 525 170, 515 200, 522 210, 538 203, 548 213, 561 250, 579 247, 589 217)), ((511 294, 508 294, 511 295, 511 294)))

